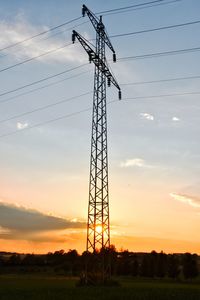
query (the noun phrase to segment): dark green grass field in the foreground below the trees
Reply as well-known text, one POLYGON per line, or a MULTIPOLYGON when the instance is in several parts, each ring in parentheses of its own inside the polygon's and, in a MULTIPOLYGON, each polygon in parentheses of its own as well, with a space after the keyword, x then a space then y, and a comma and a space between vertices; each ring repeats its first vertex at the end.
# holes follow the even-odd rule
POLYGON ((0 276, 0 300, 200 300, 200 284, 120 279, 119 287, 76 287, 76 279, 0 276))

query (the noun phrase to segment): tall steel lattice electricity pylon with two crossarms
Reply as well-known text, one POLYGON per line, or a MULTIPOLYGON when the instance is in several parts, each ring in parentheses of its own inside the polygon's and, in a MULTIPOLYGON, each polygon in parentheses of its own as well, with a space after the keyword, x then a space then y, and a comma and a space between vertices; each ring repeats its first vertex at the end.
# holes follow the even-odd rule
MULTIPOLYGON (((95 49, 78 32, 73 30, 72 33, 72 42, 77 39, 88 53, 89 62, 95 65, 86 247, 87 252, 95 253, 97 250, 110 247, 106 79, 108 86, 112 83, 118 89, 119 99, 121 99, 121 90, 106 61, 106 45, 113 52, 114 62, 116 62, 116 54, 105 31, 102 16, 98 18, 85 5, 82 14, 83 16, 87 14, 96 31, 95 49)), ((108 268, 104 264, 102 268, 103 278, 105 278, 108 268)))

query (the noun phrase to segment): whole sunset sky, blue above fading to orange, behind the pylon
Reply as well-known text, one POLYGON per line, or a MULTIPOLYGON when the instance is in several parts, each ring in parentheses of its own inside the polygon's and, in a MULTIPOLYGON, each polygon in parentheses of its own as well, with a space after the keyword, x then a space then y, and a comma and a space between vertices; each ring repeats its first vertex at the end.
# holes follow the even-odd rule
MULTIPOLYGON (((146 2, 84 4, 99 13, 146 2)), ((94 66, 71 44, 71 32, 92 40, 94 29, 85 17, 7 48, 81 17, 82 4, 0 0, 0 251, 85 250, 94 66)), ((199 0, 163 0, 103 13, 119 58, 109 64, 122 89, 121 101, 114 87, 107 93, 111 243, 118 249, 200 254, 199 11, 199 0), (157 54, 183 49, 192 50, 157 54)))

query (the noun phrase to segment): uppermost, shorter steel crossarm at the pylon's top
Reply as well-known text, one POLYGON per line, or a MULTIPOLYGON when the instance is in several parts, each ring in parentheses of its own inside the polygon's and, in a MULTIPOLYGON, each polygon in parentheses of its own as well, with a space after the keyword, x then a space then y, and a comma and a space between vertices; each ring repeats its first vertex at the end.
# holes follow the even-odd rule
POLYGON ((100 33, 101 30, 101 34, 102 34, 102 26, 103 26, 103 31, 104 34, 102 35, 102 38, 104 39, 105 44, 108 46, 108 48, 110 48, 110 50, 115 53, 115 50, 111 44, 111 41, 107 35, 107 33, 104 30, 104 24, 91 12, 91 10, 89 10, 89 8, 87 8, 86 5, 83 5, 82 8, 82 15, 83 17, 85 16, 85 14, 88 15, 88 18, 90 19, 94 29, 96 30, 96 32, 100 33))

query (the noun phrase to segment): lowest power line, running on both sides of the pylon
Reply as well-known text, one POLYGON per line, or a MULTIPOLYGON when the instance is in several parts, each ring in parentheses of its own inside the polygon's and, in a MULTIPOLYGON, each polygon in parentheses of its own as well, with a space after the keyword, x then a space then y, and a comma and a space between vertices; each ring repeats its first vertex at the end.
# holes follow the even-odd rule
MULTIPOLYGON (((174 94, 150 95, 150 96, 137 96, 137 97, 123 98, 122 101, 124 101, 124 100, 138 100, 138 99, 153 99, 153 98, 163 98, 163 97, 175 97, 175 96, 187 96, 187 95, 199 95, 199 94, 200 94, 200 91, 185 92, 185 93, 174 93, 174 94)), ((117 100, 118 99, 109 101, 108 104, 111 104, 113 102, 117 102, 117 100)), ((18 129, 18 130, 15 130, 15 131, 11 131, 9 133, 2 134, 2 135, 0 135, 0 138, 6 137, 6 136, 10 136, 10 135, 14 135, 16 133, 21 133, 24 130, 29 130, 29 129, 32 129, 32 128, 35 128, 35 127, 39 127, 39 126, 42 126, 42 125, 46 125, 46 124, 52 123, 52 122, 63 120, 63 119, 66 119, 66 118, 69 118, 69 117, 72 117, 72 116, 75 116, 75 115, 79 115, 79 114, 81 114, 83 112, 87 112, 87 111, 90 111, 90 110, 92 110, 92 107, 89 107, 89 108, 86 108, 86 109, 82 109, 82 110, 76 111, 76 112, 71 113, 71 114, 66 114, 66 115, 63 115, 63 116, 60 116, 60 117, 57 117, 57 118, 53 118, 53 119, 50 119, 50 120, 47 120, 47 121, 44 121, 44 122, 39 122, 37 124, 25 127, 23 129, 20 129, 20 130, 18 129)))

